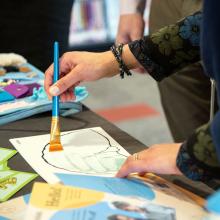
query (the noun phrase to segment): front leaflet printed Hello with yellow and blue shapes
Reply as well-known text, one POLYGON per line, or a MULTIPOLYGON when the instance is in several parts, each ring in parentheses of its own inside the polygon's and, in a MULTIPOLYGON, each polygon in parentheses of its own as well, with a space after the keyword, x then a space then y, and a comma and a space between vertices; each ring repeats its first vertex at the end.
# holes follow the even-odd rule
POLYGON ((175 209, 95 190, 35 183, 25 220, 176 219, 175 209))

